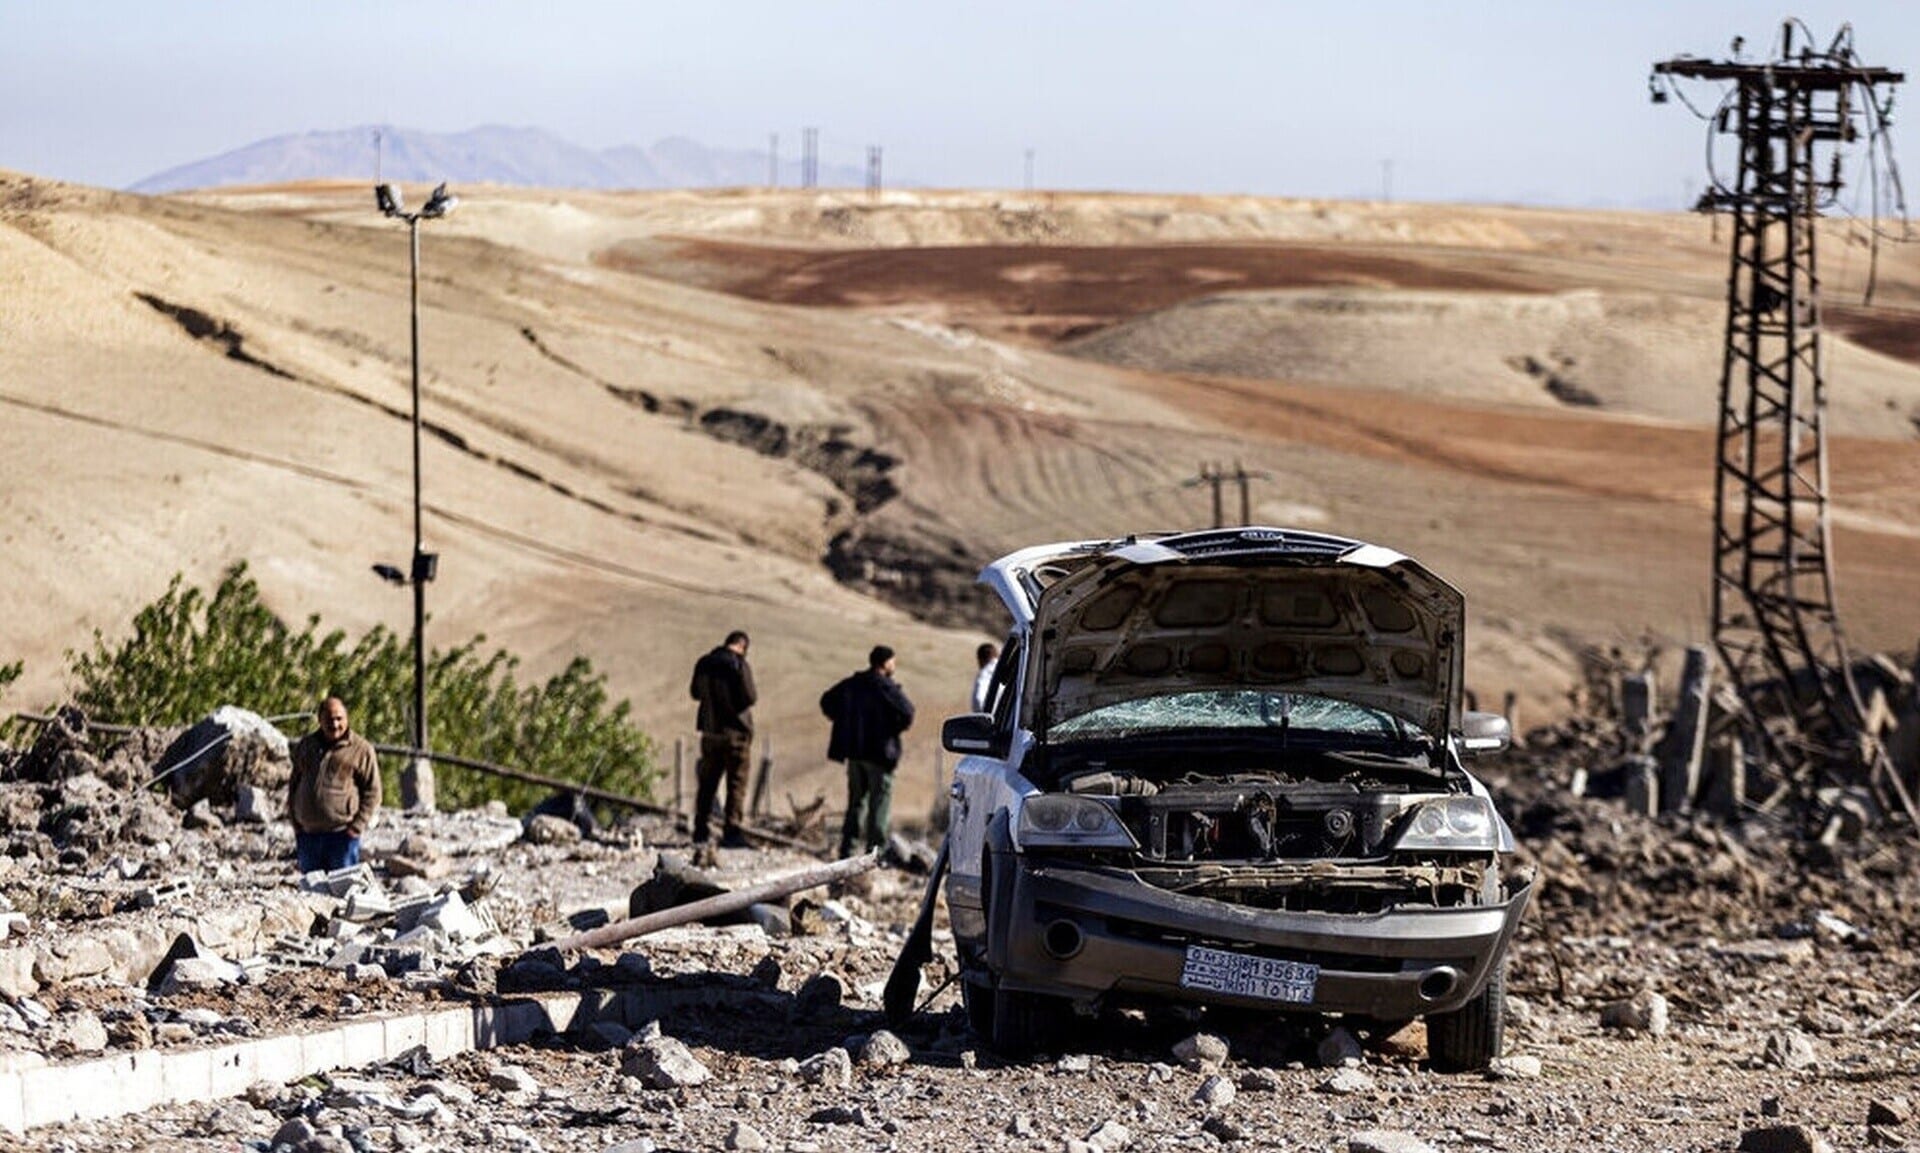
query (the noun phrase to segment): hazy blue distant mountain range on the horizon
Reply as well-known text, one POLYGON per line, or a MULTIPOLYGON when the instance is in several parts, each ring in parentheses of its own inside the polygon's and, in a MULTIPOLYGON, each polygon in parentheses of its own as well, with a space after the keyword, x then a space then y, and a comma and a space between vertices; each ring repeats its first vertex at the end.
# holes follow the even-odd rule
MULTIPOLYGON (((180 192, 223 184, 365 178, 526 184, 536 188, 726 188, 766 184, 768 153, 707 148, 685 136, 653 146, 595 152, 543 129, 484 125, 467 132, 417 132, 363 125, 338 132, 273 136, 215 157, 156 173, 131 192, 180 192)), ((781 157, 780 182, 801 182, 799 148, 781 157)), ((828 188, 864 186, 854 165, 820 165, 828 188)))

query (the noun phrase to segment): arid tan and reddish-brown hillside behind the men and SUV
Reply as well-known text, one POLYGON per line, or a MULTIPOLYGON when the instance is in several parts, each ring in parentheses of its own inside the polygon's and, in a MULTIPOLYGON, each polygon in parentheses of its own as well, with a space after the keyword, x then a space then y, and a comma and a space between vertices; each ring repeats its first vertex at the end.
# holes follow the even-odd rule
MULTIPOLYGON (((419 190, 409 190, 419 196, 419 190)), ((1043 539, 1252 518, 1415 554, 1469 683, 1555 710, 1588 643, 1705 639, 1724 234, 1697 217, 1246 198, 461 188, 422 228, 430 637, 576 652, 664 739, 755 633, 776 796, 900 650, 902 804, 1043 539), (1236 514, 1229 493, 1229 516, 1236 514)), ((1920 633, 1920 255, 1822 232, 1849 637, 1920 633)), ((409 627, 405 230, 363 186, 138 198, 0 175, 4 704, 175 572, 409 627)), ((238 702, 290 712, 307 702, 238 702)), ((111 718, 109 718, 111 719, 111 718)), ((566 771, 568 765, 545 765, 566 771)))

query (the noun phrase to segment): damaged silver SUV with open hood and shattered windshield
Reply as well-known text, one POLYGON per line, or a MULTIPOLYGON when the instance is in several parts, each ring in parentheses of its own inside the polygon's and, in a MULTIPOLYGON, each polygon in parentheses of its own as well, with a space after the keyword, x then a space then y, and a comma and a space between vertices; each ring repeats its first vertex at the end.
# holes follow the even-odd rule
MULTIPOLYGON (((991 712, 950 718, 947 904, 968 1017, 1004 1053, 1073 1013, 1183 1001, 1427 1019, 1500 1053, 1530 888, 1465 771, 1463 599, 1359 541, 1238 528, 1025 549, 991 712)), ((929 892, 931 898, 931 892, 929 892)))

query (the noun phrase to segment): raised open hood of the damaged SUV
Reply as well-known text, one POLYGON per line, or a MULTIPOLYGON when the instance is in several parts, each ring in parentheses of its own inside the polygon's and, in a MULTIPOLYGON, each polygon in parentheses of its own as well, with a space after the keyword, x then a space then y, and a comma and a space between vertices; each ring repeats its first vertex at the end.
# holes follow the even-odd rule
POLYGON ((1459 731, 1465 600, 1392 549, 1236 528, 1016 558, 985 579, 1035 637, 1021 725, 1041 739, 1108 704, 1196 689, 1350 700, 1434 742, 1459 731))

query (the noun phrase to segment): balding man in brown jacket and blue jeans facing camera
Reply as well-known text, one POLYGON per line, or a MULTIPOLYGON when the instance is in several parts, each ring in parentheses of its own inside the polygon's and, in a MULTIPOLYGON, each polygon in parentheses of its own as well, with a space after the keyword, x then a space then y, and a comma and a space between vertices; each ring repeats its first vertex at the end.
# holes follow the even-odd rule
POLYGON ((365 737, 348 729, 348 706, 338 696, 323 700, 315 718, 319 727, 294 744, 286 812, 300 871, 332 873, 359 863, 359 838, 380 812, 380 760, 365 737))

